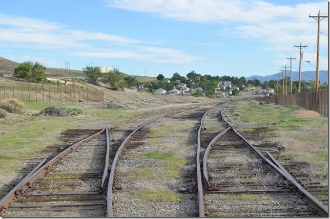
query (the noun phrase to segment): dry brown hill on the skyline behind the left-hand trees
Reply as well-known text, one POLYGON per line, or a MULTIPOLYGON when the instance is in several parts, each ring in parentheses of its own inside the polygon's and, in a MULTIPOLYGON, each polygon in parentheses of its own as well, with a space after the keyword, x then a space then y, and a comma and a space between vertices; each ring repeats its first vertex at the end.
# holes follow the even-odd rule
MULTIPOLYGON (((18 62, 0 57, 0 73, 12 74, 14 72, 14 69, 17 68, 18 65, 19 65, 18 62)), ((71 79, 73 77, 81 78, 81 79, 85 78, 83 71, 65 70, 65 69, 57 69, 57 68, 47 68, 46 75, 49 78, 55 78, 55 79, 71 79)), ((127 74, 124 75, 125 77, 128 76, 127 74)), ((141 82, 157 81, 155 77, 145 77, 145 76, 137 76, 137 75, 136 76, 133 75, 133 77, 136 77, 136 79, 141 82)))

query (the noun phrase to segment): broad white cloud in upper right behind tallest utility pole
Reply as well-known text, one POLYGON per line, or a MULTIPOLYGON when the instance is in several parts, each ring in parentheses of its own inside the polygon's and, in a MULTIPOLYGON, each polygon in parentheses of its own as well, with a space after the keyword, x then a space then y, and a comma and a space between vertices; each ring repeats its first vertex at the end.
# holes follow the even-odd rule
MULTIPOLYGON (((327 15, 327 2, 283 6, 265 1, 227 0, 109 0, 108 7, 151 13, 195 23, 219 24, 221 35, 263 41, 269 50, 293 51, 300 41, 315 45, 317 24, 309 14, 327 15), (228 27, 229 26, 229 27, 228 27)), ((327 33, 327 20, 322 21, 327 33)), ((327 40, 321 40, 327 49, 327 40)))

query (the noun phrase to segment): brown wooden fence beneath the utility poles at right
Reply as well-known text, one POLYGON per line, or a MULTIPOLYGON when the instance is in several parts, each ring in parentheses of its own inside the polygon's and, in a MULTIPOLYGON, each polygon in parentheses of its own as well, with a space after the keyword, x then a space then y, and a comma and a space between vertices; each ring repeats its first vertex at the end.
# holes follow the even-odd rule
POLYGON ((256 97, 267 103, 276 103, 282 106, 300 106, 315 111, 323 117, 328 117, 328 90, 299 93, 287 96, 256 97))

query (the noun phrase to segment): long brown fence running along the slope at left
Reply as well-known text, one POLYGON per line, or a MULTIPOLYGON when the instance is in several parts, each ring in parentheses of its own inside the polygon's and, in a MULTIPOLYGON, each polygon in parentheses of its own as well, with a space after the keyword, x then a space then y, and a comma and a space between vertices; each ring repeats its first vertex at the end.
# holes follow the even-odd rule
POLYGON ((72 89, 61 86, 0 85, 0 99, 15 98, 28 102, 103 102, 104 92, 72 89))

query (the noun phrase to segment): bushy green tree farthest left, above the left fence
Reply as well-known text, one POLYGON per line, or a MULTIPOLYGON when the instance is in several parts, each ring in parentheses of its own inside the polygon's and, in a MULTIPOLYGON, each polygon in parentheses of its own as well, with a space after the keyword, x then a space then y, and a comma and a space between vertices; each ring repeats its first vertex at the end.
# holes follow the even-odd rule
POLYGON ((32 82, 40 82, 43 79, 47 81, 45 71, 46 68, 42 64, 38 62, 33 64, 32 61, 26 61, 19 64, 18 67, 14 69, 14 75, 17 78, 28 79, 32 82))

